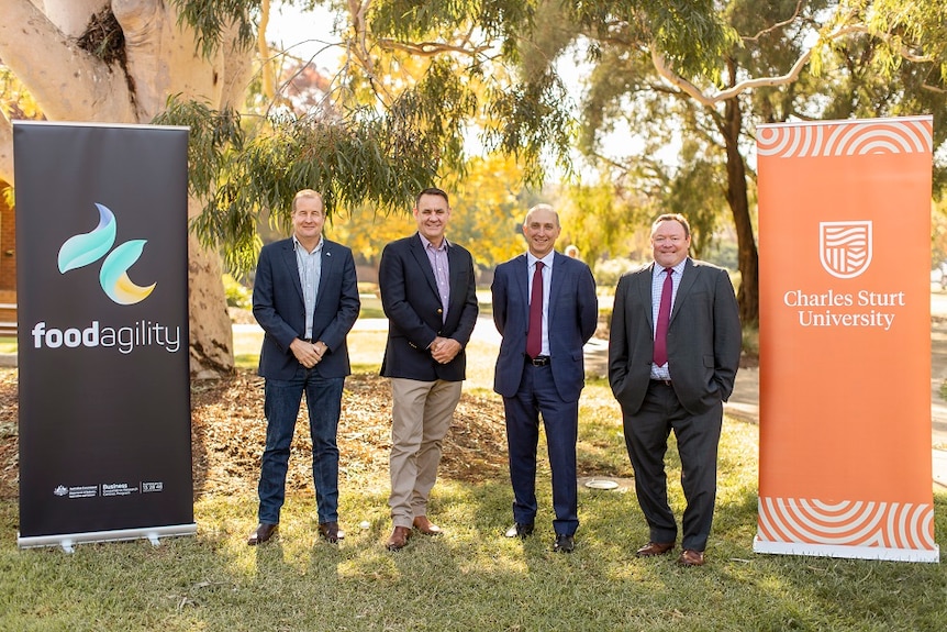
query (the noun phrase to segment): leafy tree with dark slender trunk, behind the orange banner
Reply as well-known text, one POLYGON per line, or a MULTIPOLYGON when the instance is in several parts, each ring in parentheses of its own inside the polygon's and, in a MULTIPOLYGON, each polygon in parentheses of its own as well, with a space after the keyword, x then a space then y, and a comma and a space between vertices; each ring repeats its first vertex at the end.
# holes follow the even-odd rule
MULTIPOLYGON (((603 136, 623 125, 644 137, 642 149, 600 164, 624 190, 643 189, 665 210, 695 211, 705 229, 714 224, 717 200, 726 201, 738 242, 740 315, 751 323, 759 313, 758 256, 747 157, 756 124, 933 113, 943 147, 947 2, 660 4, 548 2, 559 15, 555 29, 581 34, 592 68, 580 145, 604 158, 603 136), (669 26, 687 11, 686 25, 669 26), (668 145, 680 147, 672 164, 657 157, 668 145)), ((558 46, 549 58, 573 42, 548 41, 558 46)), ((944 173, 938 165, 938 188, 944 173)))

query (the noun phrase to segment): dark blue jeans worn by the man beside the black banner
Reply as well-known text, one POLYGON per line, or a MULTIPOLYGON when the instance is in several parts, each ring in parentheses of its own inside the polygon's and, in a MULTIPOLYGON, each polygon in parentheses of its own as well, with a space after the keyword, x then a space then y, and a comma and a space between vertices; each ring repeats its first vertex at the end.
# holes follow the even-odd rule
POLYGON ((266 450, 258 488, 260 522, 279 523, 279 511, 286 498, 289 448, 303 391, 312 436, 312 479, 319 522, 338 520, 338 445, 335 435, 345 378, 325 378, 317 370, 300 366, 292 379, 266 380, 266 450))

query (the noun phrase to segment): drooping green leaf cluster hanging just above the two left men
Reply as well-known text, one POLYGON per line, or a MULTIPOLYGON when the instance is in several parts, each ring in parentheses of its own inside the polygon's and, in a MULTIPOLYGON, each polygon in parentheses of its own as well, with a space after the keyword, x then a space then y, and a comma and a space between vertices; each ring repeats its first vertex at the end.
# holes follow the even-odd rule
POLYGON ((405 124, 397 109, 388 118, 363 110, 347 125, 278 115, 261 125, 266 133, 246 137, 234 117, 172 100, 156 122, 199 130, 189 149, 190 186, 207 202, 191 226, 205 245, 226 246, 224 260, 234 271, 255 265, 263 214, 275 226, 289 226, 300 189, 322 192, 328 217, 339 204, 364 200, 405 208, 433 181, 438 164, 438 138, 405 124))

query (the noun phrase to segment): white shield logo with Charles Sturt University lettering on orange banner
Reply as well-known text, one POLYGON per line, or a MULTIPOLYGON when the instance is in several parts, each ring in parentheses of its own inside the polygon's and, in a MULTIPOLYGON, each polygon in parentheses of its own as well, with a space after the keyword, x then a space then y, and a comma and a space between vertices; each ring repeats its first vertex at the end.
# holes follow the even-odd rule
MULTIPOLYGON (((818 255, 822 267, 836 279, 855 279, 869 268, 873 254, 871 221, 820 222, 818 255)), ((788 290, 786 307, 796 310, 804 328, 878 328, 889 331, 900 308, 903 290, 885 288, 824 288, 788 290)))

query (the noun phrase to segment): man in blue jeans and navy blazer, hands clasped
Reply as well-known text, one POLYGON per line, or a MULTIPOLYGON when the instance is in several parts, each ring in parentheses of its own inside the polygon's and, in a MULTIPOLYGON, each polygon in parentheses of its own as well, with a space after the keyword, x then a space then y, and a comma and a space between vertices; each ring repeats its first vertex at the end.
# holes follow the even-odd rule
POLYGON ((325 206, 312 189, 292 201, 293 235, 264 246, 253 291, 253 313, 265 332, 259 375, 266 378, 266 448, 259 476, 259 525, 247 544, 279 529, 296 420, 305 392, 312 435, 312 478, 319 534, 336 543, 342 388, 352 373, 346 335, 360 302, 352 251, 322 236, 325 206))

